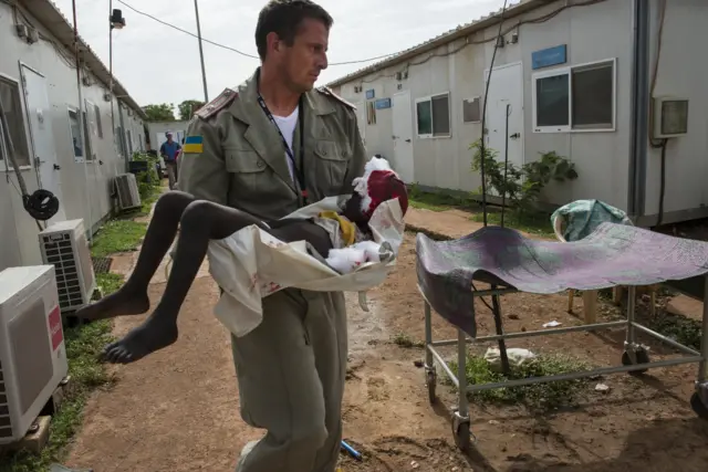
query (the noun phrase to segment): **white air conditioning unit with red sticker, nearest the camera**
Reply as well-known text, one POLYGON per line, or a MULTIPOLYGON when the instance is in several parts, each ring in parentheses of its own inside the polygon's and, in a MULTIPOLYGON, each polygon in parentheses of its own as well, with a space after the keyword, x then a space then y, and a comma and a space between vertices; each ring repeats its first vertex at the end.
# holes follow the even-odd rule
POLYGON ((28 433, 67 370, 54 268, 0 272, 0 444, 28 433))

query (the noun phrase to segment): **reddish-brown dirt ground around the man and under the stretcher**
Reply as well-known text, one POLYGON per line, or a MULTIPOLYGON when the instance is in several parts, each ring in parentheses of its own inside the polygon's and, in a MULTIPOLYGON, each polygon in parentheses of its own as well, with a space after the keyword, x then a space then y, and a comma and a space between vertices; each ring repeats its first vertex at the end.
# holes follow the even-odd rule
MULTIPOLYGON (((475 225, 459 214, 412 214, 416 224, 433 224, 437 219, 452 232, 465 233, 475 225)), ((118 258, 114 269, 129 271, 133 259, 134 254, 118 258)), ((261 434, 239 418, 227 333, 211 314, 217 287, 206 271, 200 275, 183 308, 180 339, 136 365, 116 368, 115 387, 92 398, 67 465, 96 472, 227 472, 233 470, 246 442, 261 434)), ((163 289, 164 277, 158 274, 150 296, 157 298, 163 289)), ((693 365, 636 378, 618 374, 597 379, 610 390, 596 392, 593 381, 579 407, 552 415, 534 415, 523 407, 470 405, 477 441, 470 453, 462 454, 455 448, 449 423, 455 392, 439 385, 439 401, 430 406, 423 369, 415 366, 423 350, 391 342, 399 333, 416 340, 424 337, 414 237, 407 237, 395 273, 369 292, 368 313, 358 308, 356 296, 347 300, 351 347, 344 434, 364 460, 343 457, 343 472, 708 470, 708 422, 697 419, 688 406, 697 371, 693 365)), ((502 298, 504 328, 540 329, 550 321, 580 324, 565 313, 566 300, 563 294, 509 295, 502 298)), ((575 312, 580 308, 576 297, 575 312)), ((478 313, 480 332, 491 332, 491 314, 486 308, 478 313)), ((118 319, 116 335, 140 319, 118 319)), ((509 345, 572 354, 597 366, 617 365, 623 335, 575 333, 509 345)), ((434 336, 454 338, 456 332, 435 317, 434 336)), ((486 347, 476 349, 482 353, 486 347)), ((669 354, 657 347, 652 350, 653 359, 669 354)))

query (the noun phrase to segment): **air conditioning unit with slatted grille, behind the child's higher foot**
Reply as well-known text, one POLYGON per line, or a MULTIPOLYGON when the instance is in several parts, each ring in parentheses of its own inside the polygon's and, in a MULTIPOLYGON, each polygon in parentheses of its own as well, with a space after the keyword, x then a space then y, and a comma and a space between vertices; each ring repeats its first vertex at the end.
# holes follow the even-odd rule
POLYGON ((91 302, 96 277, 84 230, 84 221, 54 223, 40 232, 42 261, 56 273, 59 304, 62 312, 73 312, 91 302))

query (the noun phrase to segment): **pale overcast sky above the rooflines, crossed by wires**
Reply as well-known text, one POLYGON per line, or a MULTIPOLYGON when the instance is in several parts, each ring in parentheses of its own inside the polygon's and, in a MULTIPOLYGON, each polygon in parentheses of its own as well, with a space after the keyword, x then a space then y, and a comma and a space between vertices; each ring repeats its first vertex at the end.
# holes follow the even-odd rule
MULTIPOLYGON (((54 0, 72 18, 72 0, 54 0)), ((125 0, 137 10, 196 33, 194 0, 125 0)), ((257 55, 253 32, 266 0, 199 0, 204 39, 257 55)), ((516 3, 516 1, 510 3, 516 3)), ((501 8, 503 0, 320 0, 334 18, 330 63, 393 53, 427 41, 461 23, 501 8)), ((115 30, 113 71, 140 104, 204 99, 196 38, 132 11, 118 0, 126 28, 115 30)), ((108 65, 108 0, 76 0, 79 34, 108 65)), ((204 44, 209 98, 236 86, 258 66, 258 60, 204 44)), ((320 76, 325 84, 373 62, 331 65, 320 76)))

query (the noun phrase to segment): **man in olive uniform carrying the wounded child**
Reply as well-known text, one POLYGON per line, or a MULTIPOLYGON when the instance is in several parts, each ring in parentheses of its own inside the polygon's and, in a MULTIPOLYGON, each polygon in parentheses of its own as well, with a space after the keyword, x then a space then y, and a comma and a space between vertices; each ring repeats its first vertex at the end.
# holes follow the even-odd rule
MULTIPOLYGON (((351 193, 366 155, 354 107, 313 88, 327 65, 332 18, 310 0, 271 0, 256 43, 261 67, 189 124, 178 187, 197 198, 279 219, 351 193)), ((232 337, 243 420, 268 432, 239 472, 333 472, 342 438, 347 333, 342 293, 287 290, 263 319, 232 337)))

